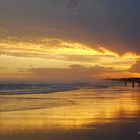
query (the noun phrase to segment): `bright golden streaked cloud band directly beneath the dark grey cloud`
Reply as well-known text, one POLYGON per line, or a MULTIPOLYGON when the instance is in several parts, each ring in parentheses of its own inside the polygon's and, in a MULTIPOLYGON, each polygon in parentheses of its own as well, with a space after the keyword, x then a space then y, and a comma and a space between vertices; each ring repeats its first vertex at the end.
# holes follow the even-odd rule
POLYGON ((140 58, 132 52, 126 52, 120 56, 100 45, 98 49, 94 49, 93 46, 55 38, 22 40, 9 37, 0 41, 0 54, 64 62, 67 66, 72 64, 87 67, 99 65, 112 67, 115 70, 128 70, 140 58))

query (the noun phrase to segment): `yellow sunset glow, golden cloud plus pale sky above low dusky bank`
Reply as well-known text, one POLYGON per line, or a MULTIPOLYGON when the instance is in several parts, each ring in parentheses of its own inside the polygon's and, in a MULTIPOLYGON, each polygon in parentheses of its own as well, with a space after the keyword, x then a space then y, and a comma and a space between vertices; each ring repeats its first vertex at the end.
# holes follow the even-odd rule
POLYGON ((115 71, 126 71, 140 58, 132 52, 119 55, 100 45, 87 46, 55 38, 1 40, 0 55, 1 67, 6 68, 7 74, 8 71, 9 74, 13 71, 12 75, 16 75, 21 65, 25 69, 24 72, 32 67, 69 68, 71 65, 87 68, 100 66, 115 71))

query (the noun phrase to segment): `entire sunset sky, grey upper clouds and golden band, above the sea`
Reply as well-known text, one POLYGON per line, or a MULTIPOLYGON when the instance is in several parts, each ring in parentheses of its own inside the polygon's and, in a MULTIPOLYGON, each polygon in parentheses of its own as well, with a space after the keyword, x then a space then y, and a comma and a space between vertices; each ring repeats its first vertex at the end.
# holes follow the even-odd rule
POLYGON ((0 0, 1 81, 140 77, 140 1, 0 0))

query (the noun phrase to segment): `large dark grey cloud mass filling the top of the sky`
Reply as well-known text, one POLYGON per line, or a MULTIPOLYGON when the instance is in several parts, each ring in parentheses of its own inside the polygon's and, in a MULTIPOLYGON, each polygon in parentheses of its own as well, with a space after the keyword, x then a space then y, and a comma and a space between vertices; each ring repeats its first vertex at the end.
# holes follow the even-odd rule
POLYGON ((138 0, 1 0, 0 25, 9 35, 50 36, 140 53, 139 5, 138 0))

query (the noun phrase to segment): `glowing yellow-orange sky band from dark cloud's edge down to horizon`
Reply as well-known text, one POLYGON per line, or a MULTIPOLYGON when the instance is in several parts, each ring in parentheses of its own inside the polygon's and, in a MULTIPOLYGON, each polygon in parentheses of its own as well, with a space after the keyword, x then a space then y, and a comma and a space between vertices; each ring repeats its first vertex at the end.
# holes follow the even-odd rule
POLYGON ((1 39, 2 80, 92 81, 108 77, 139 77, 140 56, 119 55, 107 46, 88 46, 56 38, 1 39), (94 49, 96 48, 96 49, 94 49), (133 68, 133 70, 132 70, 133 68), (135 68, 136 69, 136 68, 135 68))

